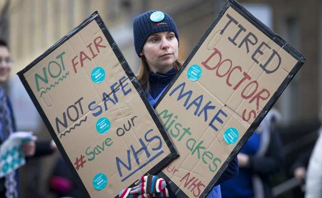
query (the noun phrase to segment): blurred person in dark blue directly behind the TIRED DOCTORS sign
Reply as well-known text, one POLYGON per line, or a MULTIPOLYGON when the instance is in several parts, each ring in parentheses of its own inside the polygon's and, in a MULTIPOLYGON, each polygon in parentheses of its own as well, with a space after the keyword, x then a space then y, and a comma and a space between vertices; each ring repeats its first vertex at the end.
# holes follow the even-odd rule
POLYGON ((222 198, 272 198, 269 176, 277 173, 284 154, 277 123, 280 114, 271 109, 237 155, 239 174, 221 184, 222 198))

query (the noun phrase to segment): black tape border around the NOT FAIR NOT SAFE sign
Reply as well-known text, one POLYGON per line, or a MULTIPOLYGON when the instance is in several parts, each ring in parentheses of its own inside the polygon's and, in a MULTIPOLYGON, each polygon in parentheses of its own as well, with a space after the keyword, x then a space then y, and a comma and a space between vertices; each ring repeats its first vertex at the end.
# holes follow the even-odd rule
MULTIPOLYGON (((102 32, 104 33, 104 36, 106 37, 108 44, 111 46, 115 56, 117 57, 117 59, 119 60, 123 70, 125 71, 126 75, 128 76, 129 80, 131 81, 131 83, 133 84, 133 86, 135 87, 137 93, 139 94, 139 96, 141 97, 141 99, 143 100, 146 108, 148 109, 152 119, 154 120, 154 122, 156 123, 158 129, 160 130, 161 136, 164 139, 167 147, 170 150, 170 154, 168 154, 165 158, 163 158, 158 164, 156 164, 152 169, 150 169, 147 174, 157 174, 159 171, 161 171, 161 169, 163 167, 165 167, 168 163, 170 163, 173 159, 175 159, 176 157, 179 156, 178 151, 176 150, 176 148, 173 146, 173 143, 171 142, 171 139, 169 138, 169 136, 167 135, 167 132, 165 131, 163 125, 161 124, 161 121, 159 119, 159 117, 157 116, 154 108, 151 106, 150 102, 148 101, 148 99, 145 96, 145 93, 140 85, 140 83, 138 82, 137 78, 135 77, 133 71, 131 70, 131 68, 129 67, 128 63, 126 62, 124 56, 122 55, 120 49, 118 48, 118 46, 116 45, 115 41, 113 40, 112 36, 110 35, 109 31, 107 30, 107 27, 105 26, 102 18, 100 17, 99 13, 97 11, 95 11, 89 18, 87 18, 83 23, 81 23, 79 26, 77 26, 75 29, 73 29, 71 32, 69 32, 66 36, 64 36, 63 38, 61 38, 58 42, 56 42, 50 49, 46 50, 42 55, 40 55, 37 59, 35 59, 33 62, 31 62, 28 66, 26 66, 23 70, 19 71, 17 73, 17 75, 19 76, 22 84, 24 85, 29 97, 31 98, 31 100, 33 101, 34 105, 36 106, 39 114, 41 115, 46 127, 48 128, 57 148, 60 151, 60 154, 62 155, 62 157, 64 158, 65 162, 67 163, 68 168, 71 170, 71 173, 73 174, 73 176, 76 178, 76 182, 79 185, 79 187, 82 189, 82 191, 84 191, 84 193, 90 197, 89 193, 87 192, 85 185, 83 184, 83 182, 81 181, 77 171, 74 168, 73 163, 70 161, 70 159, 68 158, 65 150, 63 149, 62 145, 60 144, 60 141, 58 139, 58 137, 56 136, 54 129, 52 127, 52 125, 50 124, 45 112, 43 111, 41 105, 39 104, 38 100, 36 99, 35 95, 33 94, 30 86, 27 83, 27 80, 25 79, 25 77, 23 76, 24 73, 26 73, 29 69, 31 69, 34 65, 36 65, 38 62, 40 62, 43 58, 45 58, 47 55, 49 55, 50 53, 52 53, 55 49, 57 49, 59 46, 61 46, 63 43, 65 43, 68 39, 70 39, 72 36, 74 36, 76 33, 78 33, 80 30, 82 30, 85 26, 87 26, 89 23, 91 23, 93 20, 96 20, 97 24, 99 25, 99 27, 101 28, 102 32)), ((138 178, 139 179, 139 178, 138 178)), ((134 186, 134 184, 132 184, 131 186, 134 186)), ((118 196, 116 196, 115 198, 117 198, 118 196)))

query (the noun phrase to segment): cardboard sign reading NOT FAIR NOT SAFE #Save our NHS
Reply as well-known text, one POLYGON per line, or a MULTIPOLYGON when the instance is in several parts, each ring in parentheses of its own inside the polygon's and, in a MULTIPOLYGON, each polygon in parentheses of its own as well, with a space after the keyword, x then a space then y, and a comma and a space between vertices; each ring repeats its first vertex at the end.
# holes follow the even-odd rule
POLYGON ((97 12, 18 75, 90 197, 117 197, 178 156, 97 12))

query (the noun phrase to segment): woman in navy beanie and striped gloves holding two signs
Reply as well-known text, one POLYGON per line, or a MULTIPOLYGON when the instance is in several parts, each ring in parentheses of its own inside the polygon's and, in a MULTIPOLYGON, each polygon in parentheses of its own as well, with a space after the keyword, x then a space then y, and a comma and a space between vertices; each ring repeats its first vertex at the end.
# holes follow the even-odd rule
MULTIPOLYGON (((173 19, 165 12, 153 10, 145 12, 134 19, 134 46, 136 53, 141 58, 141 67, 138 80, 152 106, 158 101, 171 79, 181 68, 178 61, 179 36, 173 19)), ((228 180, 238 174, 237 158, 230 164, 217 184, 228 180)), ((158 178, 162 180, 161 178, 158 178)), ((151 179, 150 179, 151 181, 151 179)), ((148 178, 142 177, 137 185, 151 185, 148 178)), ((156 192, 144 192, 152 196, 168 197, 163 188, 156 192), (157 195, 152 195, 152 194, 157 195)), ((133 194, 142 194, 140 188, 125 189, 121 191, 120 198, 127 198, 133 194)), ((169 192, 170 197, 171 192, 169 192)), ((142 196, 145 197, 145 196, 142 196)), ((208 198, 221 198, 220 187, 215 186, 208 198)))

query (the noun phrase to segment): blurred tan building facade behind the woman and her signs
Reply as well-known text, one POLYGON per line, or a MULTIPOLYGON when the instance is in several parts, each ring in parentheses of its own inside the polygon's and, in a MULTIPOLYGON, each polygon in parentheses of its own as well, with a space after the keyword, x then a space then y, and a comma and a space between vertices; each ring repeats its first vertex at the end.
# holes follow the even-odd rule
MULTIPOLYGON (((267 10, 271 29, 308 58, 276 103, 283 114, 284 124, 317 120, 322 104, 322 1, 238 2, 252 9, 255 7, 255 11, 256 7, 267 10)), ((98 10, 136 73, 139 58, 132 35, 132 22, 136 15, 151 9, 169 13, 178 26, 179 58, 184 61, 224 3, 223 0, 0 0, 0 36, 11 47, 14 58, 12 74, 15 75, 98 10)), ((40 123, 38 131, 46 131, 39 117, 33 122, 40 123)), ((44 136, 49 137, 49 133, 44 136)))

